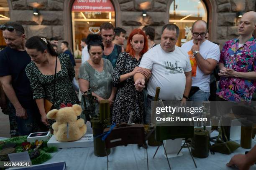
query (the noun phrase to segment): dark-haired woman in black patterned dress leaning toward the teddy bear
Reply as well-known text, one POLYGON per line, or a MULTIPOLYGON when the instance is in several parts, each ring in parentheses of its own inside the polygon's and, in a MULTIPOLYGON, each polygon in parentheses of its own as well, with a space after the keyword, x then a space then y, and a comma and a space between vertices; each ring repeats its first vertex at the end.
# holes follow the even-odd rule
POLYGON ((72 86, 75 76, 69 55, 57 54, 51 43, 45 38, 31 37, 26 42, 26 51, 31 62, 26 67, 26 75, 30 81, 33 98, 36 100, 41 121, 48 127, 55 120, 48 120, 44 109, 44 99, 53 103, 54 109, 60 109, 61 103, 77 104, 78 97, 72 86), (55 92, 54 75, 56 69, 55 92))

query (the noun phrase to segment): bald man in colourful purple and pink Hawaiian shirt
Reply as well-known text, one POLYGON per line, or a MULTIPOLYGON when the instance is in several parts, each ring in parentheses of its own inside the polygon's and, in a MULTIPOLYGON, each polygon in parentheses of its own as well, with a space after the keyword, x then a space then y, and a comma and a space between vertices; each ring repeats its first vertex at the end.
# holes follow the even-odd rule
POLYGON ((238 25, 237 39, 225 43, 220 54, 218 101, 251 102, 256 83, 256 12, 245 13, 238 25))

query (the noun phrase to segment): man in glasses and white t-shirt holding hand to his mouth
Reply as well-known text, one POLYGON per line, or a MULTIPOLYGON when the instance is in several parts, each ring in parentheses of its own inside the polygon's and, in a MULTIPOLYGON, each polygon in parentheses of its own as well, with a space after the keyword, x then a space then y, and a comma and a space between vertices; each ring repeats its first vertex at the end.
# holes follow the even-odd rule
MULTIPOLYGON (((210 96, 210 74, 220 60, 220 48, 205 39, 207 23, 197 20, 192 25, 192 40, 184 43, 182 49, 189 56, 192 66, 192 88, 189 100, 207 101, 210 96)), ((194 104, 193 104, 194 105, 194 104)))

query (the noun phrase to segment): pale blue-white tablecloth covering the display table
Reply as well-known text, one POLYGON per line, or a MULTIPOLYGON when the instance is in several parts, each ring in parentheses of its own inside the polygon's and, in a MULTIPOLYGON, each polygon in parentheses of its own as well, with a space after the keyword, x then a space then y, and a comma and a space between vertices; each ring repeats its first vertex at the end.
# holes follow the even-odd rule
MULTIPOLYGON (((88 127, 87 133, 92 133, 88 127)), ((237 141, 239 143, 239 141, 237 141)), ((255 143, 252 143, 254 146, 255 143)), ((169 166, 164 156, 164 149, 161 146, 153 159, 157 147, 148 146, 149 170, 168 170, 169 166)), ((225 155, 215 153, 207 158, 194 158, 197 168, 190 157, 187 148, 182 149, 182 156, 169 158, 172 170, 232 170, 226 167, 233 155, 245 153, 246 149, 238 148, 234 153, 225 155)), ((93 147, 90 148, 65 148, 52 153, 51 160, 46 163, 66 161, 67 170, 106 170, 107 157, 97 157, 94 155, 93 147)), ((109 170, 146 170, 147 161, 144 159, 144 149, 137 145, 118 146, 111 149, 109 158, 109 170)), ((256 170, 253 165, 250 170, 256 170)))

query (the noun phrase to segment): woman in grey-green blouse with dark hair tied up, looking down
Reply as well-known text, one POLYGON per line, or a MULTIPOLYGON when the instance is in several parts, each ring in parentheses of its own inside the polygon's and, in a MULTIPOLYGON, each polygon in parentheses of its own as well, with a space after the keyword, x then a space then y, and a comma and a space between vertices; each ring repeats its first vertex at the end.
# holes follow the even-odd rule
MULTIPOLYGON (((92 95, 97 98, 98 102, 109 100, 112 105, 116 91, 111 83, 113 66, 109 60, 102 58, 104 45, 100 35, 89 34, 87 40, 90 59, 84 62, 79 69, 79 88, 83 93, 90 87, 92 95)), ((83 102, 82 108, 84 108, 83 102)), ((98 109, 96 104, 96 114, 99 112, 98 109)))

